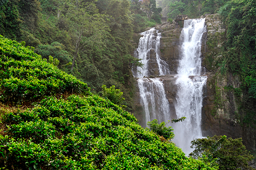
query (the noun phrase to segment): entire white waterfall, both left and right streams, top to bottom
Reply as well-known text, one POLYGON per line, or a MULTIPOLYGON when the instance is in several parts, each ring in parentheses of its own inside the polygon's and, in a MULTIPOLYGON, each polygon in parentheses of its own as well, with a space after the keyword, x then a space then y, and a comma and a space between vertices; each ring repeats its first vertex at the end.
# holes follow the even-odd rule
MULTIPOLYGON (((175 143, 189 154, 190 141, 201 138, 201 110, 203 101, 203 88, 207 77, 201 67, 201 39, 206 31, 204 19, 184 20, 184 28, 180 41, 180 62, 176 76, 176 104, 177 118, 185 116, 182 123, 172 124, 174 128, 175 143)), ((141 59, 143 68, 133 70, 137 77, 140 93, 140 104, 144 112, 144 122, 158 119, 159 123, 175 118, 175 113, 170 113, 170 105, 166 99, 166 92, 162 79, 146 78, 153 76, 169 75, 170 71, 165 61, 160 58, 161 33, 155 28, 141 33, 138 48, 134 56, 141 59)), ((164 76, 166 78, 166 76, 164 76)), ((145 126, 142 125, 142 126, 145 126)))

